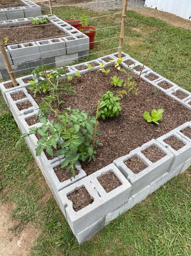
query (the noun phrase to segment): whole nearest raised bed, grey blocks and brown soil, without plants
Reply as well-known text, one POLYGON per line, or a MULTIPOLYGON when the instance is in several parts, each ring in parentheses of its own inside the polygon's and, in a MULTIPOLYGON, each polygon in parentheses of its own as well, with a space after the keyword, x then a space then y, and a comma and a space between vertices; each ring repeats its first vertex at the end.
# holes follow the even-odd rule
MULTIPOLYGON (((126 70, 131 66, 142 66, 135 59, 123 54, 121 65, 126 70)), ((109 62, 109 59, 116 60, 116 56, 117 53, 114 53, 89 62, 95 66, 91 70, 88 69, 88 62, 70 66, 70 74, 75 76, 78 70, 81 77, 73 77, 72 85, 75 86, 77 94, 72 94, 68 100, 65 98, 61 108, 71 106, 95 115, 96 102, 102 94, 108 90, 116 93, 116 88, 108 82, 110 76, 120 74, 109 62), (101 62, 110 69, 108 76, 98 70, 101 62)), ((138 70, 134 68, 133 73, 138 74, 138 70)), ((29 85, 24 84, 25 79, 26 77, 20 78, 22 82, 17 88, 6 89, 4 86, 10 81, 0 85, 22 133, 28 132, 29 127, 41 125, 34 119, 32 126, 27 122, 35 117, 41 99, 38 94, 33 99, 32 93, 28 93, 26 88, 29 85), (32 107, 19 110, 17 105, 23 102, 30 102, 32 107)), ((95 162, 83 163, 82 168, 76 166, 79 171, 76 180, 69 178, 64 181, 60 177, 60 164, 65 159, 64 155, 48 160, 42 152, 36 157, 38 139, 35 134, 26 138, 36 163, 79 243, 89 239, 120 213, 145 199, 191 165, 190 98, 189 92, 145 67, 138 95, 131 94, 130 99, 124 97, 121 100, 120 116, 106 122, 99 120, 102 135, 98 139, 103 142, 103 146, 96 147, 95 162), (161 83, 165 83, 167 87, 160 87, 161 83), (156 88, 159 90, 157 94, 154 93, 156 88), (173 95, 176 91, 186 93, 186 97, 179 99, 178 94, 173 95), (153 108, 164 109, 163 120, 159 126, 143 119, 143 112, 153 108), (84 201, 86 197, 87 200, 84 201)))

